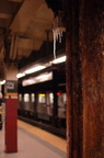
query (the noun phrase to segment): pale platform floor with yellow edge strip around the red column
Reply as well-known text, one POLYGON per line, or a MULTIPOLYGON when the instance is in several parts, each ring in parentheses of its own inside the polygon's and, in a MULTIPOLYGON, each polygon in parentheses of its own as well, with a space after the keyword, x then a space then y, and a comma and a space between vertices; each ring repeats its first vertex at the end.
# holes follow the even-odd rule
POLYGON ((0 131, 0 158, 66 158, 66 140, 18 121, 18 153, 4 153, 4 126, 0 131))

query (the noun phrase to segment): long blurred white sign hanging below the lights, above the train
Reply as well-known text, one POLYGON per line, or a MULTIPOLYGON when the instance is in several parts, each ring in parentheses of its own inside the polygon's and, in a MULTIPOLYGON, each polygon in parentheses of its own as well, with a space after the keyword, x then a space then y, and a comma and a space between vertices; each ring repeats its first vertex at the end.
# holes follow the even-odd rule
POLYGON ((53 72, 45 72, 37 77, 28 78, 22 81, 22 86, 30 86, 38 82, 44 82, 53 79, 53 72))

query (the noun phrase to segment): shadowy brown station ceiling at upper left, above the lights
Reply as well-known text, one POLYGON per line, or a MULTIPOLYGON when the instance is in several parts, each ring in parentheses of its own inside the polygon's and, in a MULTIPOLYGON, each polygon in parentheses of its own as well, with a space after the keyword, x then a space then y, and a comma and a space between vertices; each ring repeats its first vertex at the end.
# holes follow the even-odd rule
POLYGON ((53 24, 54 12, 45 0, 0 0, 0 69, 53 42, 53 24))

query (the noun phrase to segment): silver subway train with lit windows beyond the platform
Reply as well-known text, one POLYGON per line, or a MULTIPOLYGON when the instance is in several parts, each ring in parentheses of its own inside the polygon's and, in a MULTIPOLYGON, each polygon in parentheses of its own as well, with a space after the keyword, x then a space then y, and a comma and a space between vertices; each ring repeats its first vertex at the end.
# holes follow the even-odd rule
MULTIPOLYGON (((58 126, 66 127, 66 93, 57 92, 58 108, 58 126)), ((37 121, 51 123, 54 108, 53 92, 43 93, 24 93, 19 94, 19 115, 34 119, 36 114, 37 121)))

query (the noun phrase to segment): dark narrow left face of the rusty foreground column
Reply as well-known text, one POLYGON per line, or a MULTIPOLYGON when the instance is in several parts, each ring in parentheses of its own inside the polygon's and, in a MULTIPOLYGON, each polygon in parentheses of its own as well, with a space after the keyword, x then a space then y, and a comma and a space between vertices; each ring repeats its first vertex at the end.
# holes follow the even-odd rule
POLYGON ((66 53, 67 158, 82 158, 83 106, 78 0, 66 0, 66 53))

